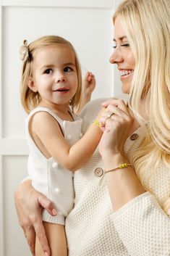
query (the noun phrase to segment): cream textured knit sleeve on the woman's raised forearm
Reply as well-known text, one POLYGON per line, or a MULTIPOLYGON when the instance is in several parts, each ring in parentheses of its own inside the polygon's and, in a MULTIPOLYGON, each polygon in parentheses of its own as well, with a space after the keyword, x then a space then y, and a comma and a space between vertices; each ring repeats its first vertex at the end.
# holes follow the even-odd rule
POLYGON ((112 220, 129 255, 170 255, 170 219, 149 192, 124 205, 112 220))

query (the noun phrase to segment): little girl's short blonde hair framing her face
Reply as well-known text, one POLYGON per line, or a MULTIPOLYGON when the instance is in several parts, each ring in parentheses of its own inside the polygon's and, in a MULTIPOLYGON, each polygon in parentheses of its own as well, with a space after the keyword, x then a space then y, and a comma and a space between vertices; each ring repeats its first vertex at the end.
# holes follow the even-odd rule
POLYGON ((32 77, 33 75, 33 54, 38 49, 41 49, 45 46, 55 45, 55 44, 68 46, 72 50, 72 52, 75 54, 75 67, 77 70, 78 86, 77 86, 77 91, 75 96, 73 96, 73 98, 70 101, 70 106, 73 109, 73 107, 77 106, 77 104, 79 104, 80 102, 80 95, 82 90, 82 73, 81 73, 80 62, 74 47, 69 41, 67 41, 64 38, 61 38, 60 36, 43 36, 33 41, 27 46, 28 58, 25 62, 23 62, 23 65, 22 65, 20 95, 21 95, 22 106, 24 107, 27 113, 33 110, 33 108, 37 107, 37 105, 41 101, 40 94, 38 92, 31 91, 30 88, 27 86, 29 78, 32 77))

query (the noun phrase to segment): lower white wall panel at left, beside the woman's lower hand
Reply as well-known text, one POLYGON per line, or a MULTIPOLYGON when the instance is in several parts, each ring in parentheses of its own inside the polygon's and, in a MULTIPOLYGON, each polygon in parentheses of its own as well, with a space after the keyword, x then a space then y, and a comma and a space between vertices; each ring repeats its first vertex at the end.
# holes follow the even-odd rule
MULTIPOLYGON (((4 202, 4 256, 30 255, 27 241, 17 223, 14 208, 14 189, 27 175, 27 157, 4 156, 3 169, 3 202, 4 202)), ((3 256, 3 255, 1 255, 3 256)))

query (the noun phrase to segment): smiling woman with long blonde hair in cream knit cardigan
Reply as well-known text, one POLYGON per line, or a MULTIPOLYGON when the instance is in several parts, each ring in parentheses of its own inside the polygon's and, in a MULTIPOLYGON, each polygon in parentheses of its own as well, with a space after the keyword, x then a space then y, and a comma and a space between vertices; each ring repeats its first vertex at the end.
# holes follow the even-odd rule
MULTIPOLYGON (((75 208, 66 220, 69 256, 170 254, 169 10, 167 0, 127 0, 116 10, 110 62, 120 70, 129 102, 103 104, 103 162, 96 151, 75 173, 75 208)), ((82 111, 83 133, 101 102, 82 111)), ((36 232, 50 255, 41 209, 53 214, 53 204, 29 180, 15 201, 30 249, 36 232)))

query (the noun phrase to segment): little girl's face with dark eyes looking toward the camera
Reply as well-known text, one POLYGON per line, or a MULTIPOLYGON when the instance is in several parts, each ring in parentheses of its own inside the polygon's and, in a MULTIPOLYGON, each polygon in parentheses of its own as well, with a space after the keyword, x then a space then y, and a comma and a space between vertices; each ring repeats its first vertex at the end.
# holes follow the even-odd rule
POLYGON ((41 103, 68 105, 78 84, 75 54, 69 46, 45 46, 35 51, 29 84, 41 95, 41 103))

